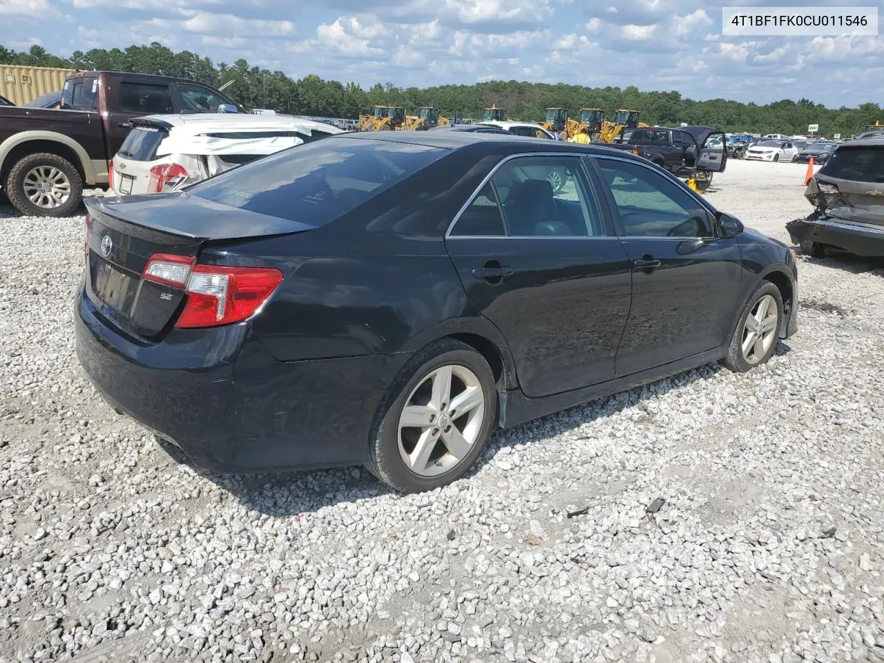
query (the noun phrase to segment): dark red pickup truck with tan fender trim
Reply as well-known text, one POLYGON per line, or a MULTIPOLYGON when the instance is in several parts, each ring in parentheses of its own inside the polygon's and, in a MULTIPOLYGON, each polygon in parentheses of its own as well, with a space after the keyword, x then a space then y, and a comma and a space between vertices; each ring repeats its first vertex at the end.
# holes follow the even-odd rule
POLYGON ((126 72, 78 72, 62 110, 0 106, 0 187, 22 214, 62 217, 84 186, 106 187, 108 164, 130 120, 157 113, 247 112, 193 80, 126 72))

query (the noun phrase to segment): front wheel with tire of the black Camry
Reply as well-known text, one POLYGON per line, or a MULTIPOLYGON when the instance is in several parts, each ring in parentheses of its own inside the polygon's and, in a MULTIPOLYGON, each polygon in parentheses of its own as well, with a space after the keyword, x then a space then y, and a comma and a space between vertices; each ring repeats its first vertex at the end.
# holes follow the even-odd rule
POLYGON ((743 308, 722 363, 735 373, 766 363, 780 338, 782 311, 780 289, 770 281, 759 283, 743 308))

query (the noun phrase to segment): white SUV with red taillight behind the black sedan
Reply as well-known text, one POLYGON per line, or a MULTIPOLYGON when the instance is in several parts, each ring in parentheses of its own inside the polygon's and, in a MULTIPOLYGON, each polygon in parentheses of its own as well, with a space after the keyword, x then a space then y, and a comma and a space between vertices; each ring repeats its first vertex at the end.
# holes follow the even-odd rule
POLYGON ((110 162, 110 195, 175 191, 280 149, 342 133, 309 119, 245 113, 133 118, 110 162))

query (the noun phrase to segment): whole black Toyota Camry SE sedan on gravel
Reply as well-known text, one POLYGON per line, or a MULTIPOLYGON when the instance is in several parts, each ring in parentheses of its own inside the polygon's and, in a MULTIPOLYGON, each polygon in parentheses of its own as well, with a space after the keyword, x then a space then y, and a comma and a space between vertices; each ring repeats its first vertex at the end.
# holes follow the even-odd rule
POLYGON ((205 469, 427 490, 498 426, 796 331, 789 248, 593 145, 347 133, 88 212, 80 362, 205 469))

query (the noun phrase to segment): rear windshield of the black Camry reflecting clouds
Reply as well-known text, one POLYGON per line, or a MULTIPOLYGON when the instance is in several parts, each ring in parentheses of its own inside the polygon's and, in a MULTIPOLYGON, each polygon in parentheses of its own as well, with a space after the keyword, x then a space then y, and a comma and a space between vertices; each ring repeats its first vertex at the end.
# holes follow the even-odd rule
POLYGON ((340 136, 284 149, 187 190, 241 210, 325 225, 447 153, 340 136))

